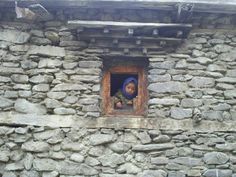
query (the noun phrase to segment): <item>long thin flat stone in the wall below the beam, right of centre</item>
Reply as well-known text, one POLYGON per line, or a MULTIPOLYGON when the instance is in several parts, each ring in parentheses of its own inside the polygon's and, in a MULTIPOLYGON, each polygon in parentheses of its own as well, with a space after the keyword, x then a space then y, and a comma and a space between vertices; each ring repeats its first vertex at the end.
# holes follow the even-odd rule
POLYGON ((161 151, 166 149, 172 149, 174 145, 171 143, 163 144, 147 144, 147 145, 135 145, 133 146, 133 151, 161 151))

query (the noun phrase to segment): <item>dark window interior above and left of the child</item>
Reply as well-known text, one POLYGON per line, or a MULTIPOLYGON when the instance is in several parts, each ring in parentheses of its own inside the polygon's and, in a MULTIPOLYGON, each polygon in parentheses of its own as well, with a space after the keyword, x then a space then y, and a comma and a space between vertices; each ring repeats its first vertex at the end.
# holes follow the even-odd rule
MULTIPOLYGON (((138 74, 111 74, 111 93, 110 96, 114 96, 115 93, 122 88, 123 82, 128 77, 134 77, 138 80, 138 74)), ((137 90, 138 93, 138 90, 137 90)))

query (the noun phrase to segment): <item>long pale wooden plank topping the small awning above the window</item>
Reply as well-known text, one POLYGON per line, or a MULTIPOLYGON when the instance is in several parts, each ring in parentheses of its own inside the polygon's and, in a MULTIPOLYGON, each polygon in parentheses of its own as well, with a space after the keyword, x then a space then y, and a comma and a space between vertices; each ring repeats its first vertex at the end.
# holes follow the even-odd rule
POLYGON ((86 27, 86 28, 105 28, 105 27, 124 27, 124 28, 138 28, 138 27, 182 27, 192 28, 191 24, 177 24, 177 23, 140 23, 140 22, 117 22, 117 21, 86 21, 86 20, 69 20, 68 25, 86 27))

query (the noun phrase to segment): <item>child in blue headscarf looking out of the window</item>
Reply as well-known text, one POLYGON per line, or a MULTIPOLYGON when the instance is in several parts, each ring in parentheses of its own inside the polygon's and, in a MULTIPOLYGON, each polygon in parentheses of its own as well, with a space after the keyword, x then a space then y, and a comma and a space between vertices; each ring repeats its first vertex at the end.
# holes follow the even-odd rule
POLYGON ((138 81, 134 77, 127 78, 119 90, 114 95, 115 109, 131 108, 133 106, 133 99, 137 96, 138 81))

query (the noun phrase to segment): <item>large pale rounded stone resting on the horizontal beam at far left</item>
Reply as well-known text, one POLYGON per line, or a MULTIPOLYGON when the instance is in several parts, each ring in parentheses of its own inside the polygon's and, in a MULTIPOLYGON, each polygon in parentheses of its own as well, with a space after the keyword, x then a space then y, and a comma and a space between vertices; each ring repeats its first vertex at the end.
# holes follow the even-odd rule
POLYGON ((46 108, 39 104, 30 103, 25 99, 17 99, 14 105, 16 111, 29 114, 46 114, 46 108))

